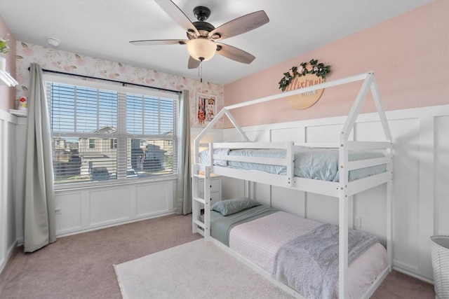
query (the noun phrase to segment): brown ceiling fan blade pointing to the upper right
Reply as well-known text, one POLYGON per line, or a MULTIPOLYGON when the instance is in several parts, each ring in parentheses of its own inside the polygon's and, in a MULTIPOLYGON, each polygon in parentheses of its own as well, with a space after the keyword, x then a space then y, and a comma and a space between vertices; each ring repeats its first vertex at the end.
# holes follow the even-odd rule
POLYGON ((269 18, 264 11, 256 11, 254 13, 248 13, 248 15, 243 15, 240 18, 236 18, 229 21, 220 27, 215 28, 209 33, 209 36, 214 34, 219 34, 220 38, 214 39, 219 41, 221 39, 229 39, 229 37, 243 34, 250 30, 256 29, 269 22, 269 18))

